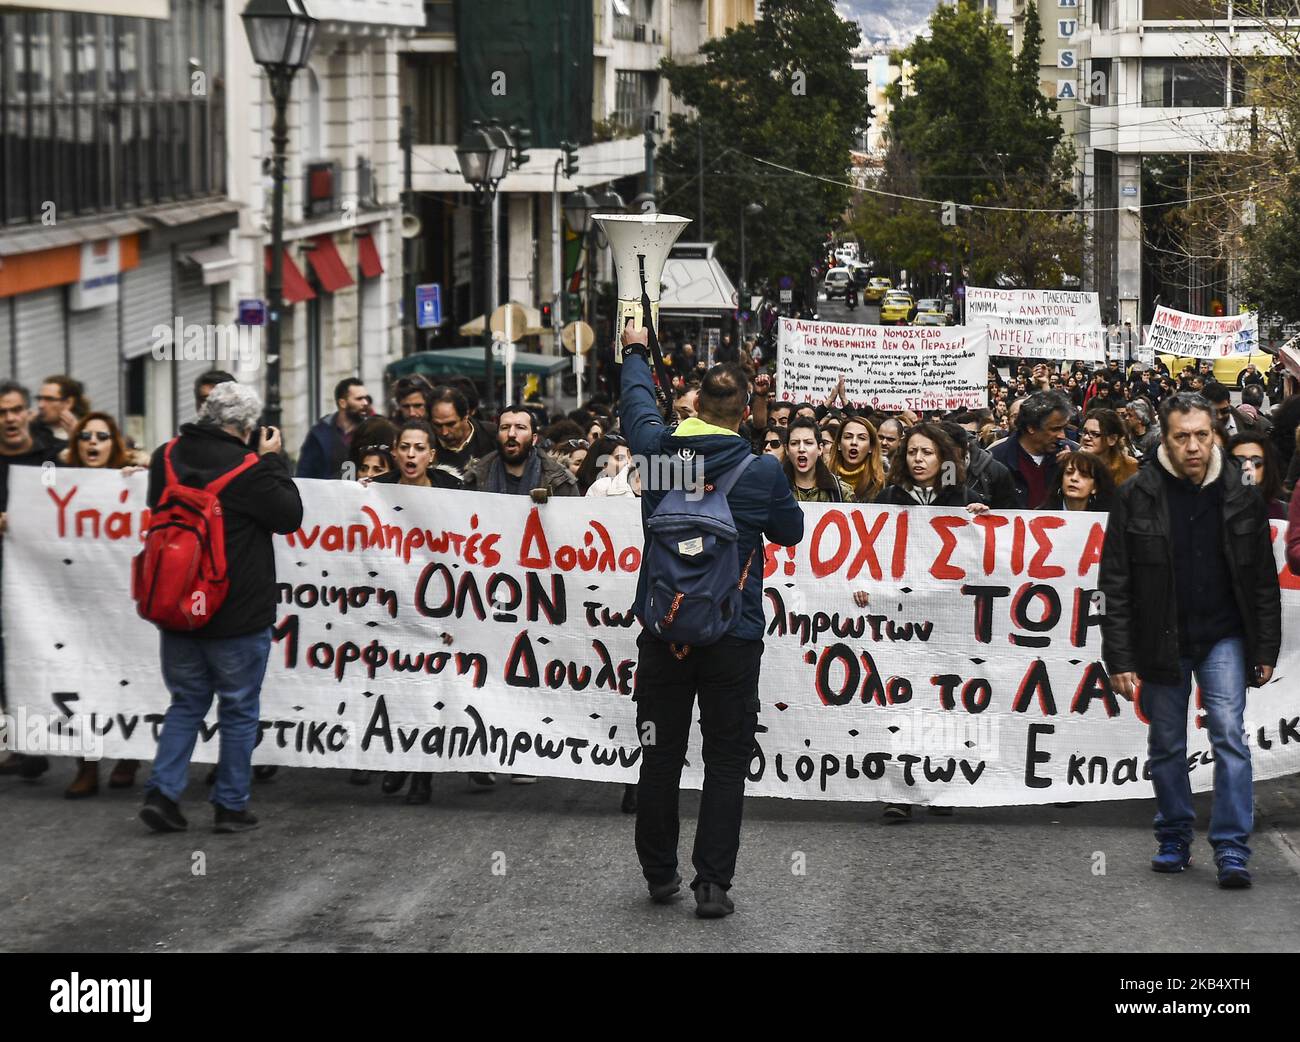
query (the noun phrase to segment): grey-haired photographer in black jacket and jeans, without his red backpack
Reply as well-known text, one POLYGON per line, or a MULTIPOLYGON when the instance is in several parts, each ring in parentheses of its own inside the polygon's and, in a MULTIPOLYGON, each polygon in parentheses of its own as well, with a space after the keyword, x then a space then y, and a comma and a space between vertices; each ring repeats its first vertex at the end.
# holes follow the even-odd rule
MULTIPOLYGON (((257 430, 260 414, 261 400, 251 387, 242 383, 213 387, 204 404, 204 418, 182 426, 178 438, 153 453, 150 509, 157 509, 166 495, 169 448, 177 482, 205 487, 248 463, 248 439, 257 430)), ((220 608, 194 631, 160 630, 162 680, 172 693, 172 704, 162 721, 153 773, 140 808, 140 819, 155 832, 188 828, 178 804, 188 780, 195 735, 213 695, 218 699, 221 731, 212 790, 214 832, 257 826, 247 804, 261 682, 276 621, 272 535, 294 531, 303 524, 303 500, 280 452, 280 431, 263 427, 256 461, 217 494, 230 577, 220 608)))

